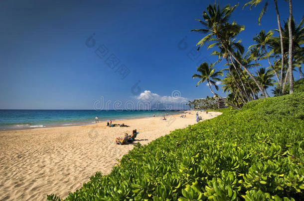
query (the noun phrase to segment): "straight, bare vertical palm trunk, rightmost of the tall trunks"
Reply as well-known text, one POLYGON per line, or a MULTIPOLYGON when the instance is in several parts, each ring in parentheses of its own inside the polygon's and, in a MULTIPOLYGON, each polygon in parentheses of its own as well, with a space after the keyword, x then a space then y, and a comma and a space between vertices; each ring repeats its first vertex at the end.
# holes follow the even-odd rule
POLYGON ((289 94, 294 93, 294 75, 293 75, 293 30, 292 30, 292 19, 293 19, 293 7, 292 0, 289 0, 289 20, 288 20, 288 30, 289 30, 289 94))

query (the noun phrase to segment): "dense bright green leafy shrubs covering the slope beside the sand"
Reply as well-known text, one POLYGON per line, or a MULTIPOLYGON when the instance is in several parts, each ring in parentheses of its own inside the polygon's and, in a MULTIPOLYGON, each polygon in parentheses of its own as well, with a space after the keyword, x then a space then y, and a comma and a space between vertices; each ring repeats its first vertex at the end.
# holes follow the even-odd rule
POLYGON ((65 200, 304 200, 303 106, 304 93, 294 93, 224 109, 138 143, 65 200))

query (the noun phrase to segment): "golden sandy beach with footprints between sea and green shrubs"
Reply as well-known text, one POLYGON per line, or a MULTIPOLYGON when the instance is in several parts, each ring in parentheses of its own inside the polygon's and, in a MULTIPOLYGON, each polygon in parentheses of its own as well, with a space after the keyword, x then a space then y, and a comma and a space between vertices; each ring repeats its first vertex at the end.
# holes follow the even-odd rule
MULTIPOLYGON (((218 112, 199 113, 211 119, 218 112)), ((97 171, 109 174, 116 159, 133 149, 133 144, 114 144, 115 138, 140 133, 137 142, 147 144, 170 131, 195 124, 195 113, 113 122, 130 127, 54 127, 0 132, 0 201, 42 201, 47 194, 65 198, 82 187, 97 171)), ((135 143, 134 143, 135 144, 135 143)))

